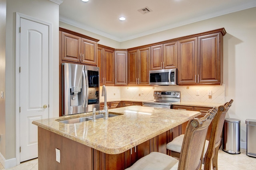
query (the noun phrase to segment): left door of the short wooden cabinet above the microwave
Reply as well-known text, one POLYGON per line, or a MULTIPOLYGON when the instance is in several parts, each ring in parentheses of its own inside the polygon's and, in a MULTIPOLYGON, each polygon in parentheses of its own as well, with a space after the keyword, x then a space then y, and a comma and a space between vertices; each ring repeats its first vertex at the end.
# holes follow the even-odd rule
POLYGON ((163 68, 162 47, 162 45, 155 45, 151 47, 151 70, 163 68))

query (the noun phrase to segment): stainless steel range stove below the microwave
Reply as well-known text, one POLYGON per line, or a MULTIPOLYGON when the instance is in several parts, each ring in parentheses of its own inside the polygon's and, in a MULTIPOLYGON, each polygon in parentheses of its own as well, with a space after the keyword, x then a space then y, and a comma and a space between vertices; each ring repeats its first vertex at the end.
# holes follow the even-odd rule
POLYGON ((154 100, 142 102, 142 106, 171 109, 174 102, 180 102, 180 91, 154 91, 154 100))

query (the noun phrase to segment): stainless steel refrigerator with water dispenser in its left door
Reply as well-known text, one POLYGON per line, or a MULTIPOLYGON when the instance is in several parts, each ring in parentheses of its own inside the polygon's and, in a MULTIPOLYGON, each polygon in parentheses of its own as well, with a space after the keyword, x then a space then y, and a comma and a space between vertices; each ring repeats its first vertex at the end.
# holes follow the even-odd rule
POLYGON ((62 115, 100 109, 99 67, 62 63, 62 115))

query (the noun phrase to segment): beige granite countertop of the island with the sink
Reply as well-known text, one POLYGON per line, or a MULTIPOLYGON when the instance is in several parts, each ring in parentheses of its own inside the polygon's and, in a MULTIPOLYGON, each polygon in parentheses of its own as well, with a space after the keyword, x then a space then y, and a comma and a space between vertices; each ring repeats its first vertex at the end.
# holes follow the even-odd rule
POLYGON ((65 124, 58 121, 92 115, 92 112, 33 121, 34 125, 107 154, 119 154, 193 117, 198 111, 128 106, 109 109, 119 116, 96 122, 65 124), (57 121, 56 121, 57 120, 57 121))

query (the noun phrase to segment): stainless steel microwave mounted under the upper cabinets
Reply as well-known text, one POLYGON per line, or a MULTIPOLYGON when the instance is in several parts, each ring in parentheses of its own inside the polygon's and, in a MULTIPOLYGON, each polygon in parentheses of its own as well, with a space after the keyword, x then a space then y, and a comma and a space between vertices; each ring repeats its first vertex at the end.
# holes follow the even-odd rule
POLYGON ((177 68, 150 70, 149 71, 150 85, 177 85, 177 68))

